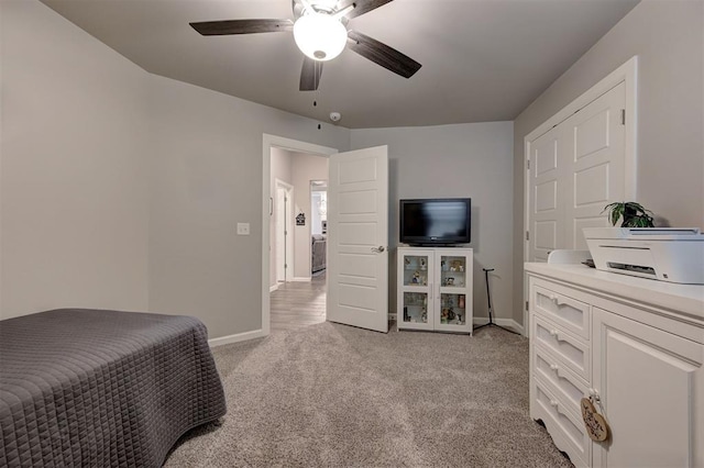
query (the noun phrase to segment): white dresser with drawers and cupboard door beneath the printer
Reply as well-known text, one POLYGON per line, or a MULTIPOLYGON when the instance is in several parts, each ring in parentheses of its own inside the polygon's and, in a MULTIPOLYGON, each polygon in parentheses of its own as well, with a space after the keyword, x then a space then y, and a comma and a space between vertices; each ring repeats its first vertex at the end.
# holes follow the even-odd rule
POLYGON ((530 415, 576 466, 704 467, 704 286, 526 264, 530 415), (592 395, 610 437, 593 442, 592 395))

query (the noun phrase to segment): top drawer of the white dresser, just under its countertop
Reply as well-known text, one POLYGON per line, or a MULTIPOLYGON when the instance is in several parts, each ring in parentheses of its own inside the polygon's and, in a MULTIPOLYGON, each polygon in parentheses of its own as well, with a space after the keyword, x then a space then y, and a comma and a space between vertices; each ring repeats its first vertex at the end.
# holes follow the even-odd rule
POLYGON ((532 285, 530 302, 534 311, 588 341, 591 335, 590 304, 560 292, 532 285))

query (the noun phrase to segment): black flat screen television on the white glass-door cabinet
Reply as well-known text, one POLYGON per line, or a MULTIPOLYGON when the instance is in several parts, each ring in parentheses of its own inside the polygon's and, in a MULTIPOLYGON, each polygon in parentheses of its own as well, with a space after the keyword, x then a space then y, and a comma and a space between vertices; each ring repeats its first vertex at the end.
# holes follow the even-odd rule
POLYGON ((400 200, 399 237, 409 245, 469 244, 472 239, 472 199, 400 200))

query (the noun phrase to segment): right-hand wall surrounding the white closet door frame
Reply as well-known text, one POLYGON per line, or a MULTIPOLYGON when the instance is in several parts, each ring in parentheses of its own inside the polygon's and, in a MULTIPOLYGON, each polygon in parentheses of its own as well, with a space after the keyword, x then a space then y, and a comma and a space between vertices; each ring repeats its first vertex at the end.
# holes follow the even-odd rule
MULTIPOLYGON (((642 0, 515 121, 514 224, 522 226, 524 137, 638 55, 638 201, 673 226, 704 227, 704 2, 642 0)), ((514 283, 522 281, 522 229, 514 283)), ((514 316, 522 320, 522 290, 514 316)))

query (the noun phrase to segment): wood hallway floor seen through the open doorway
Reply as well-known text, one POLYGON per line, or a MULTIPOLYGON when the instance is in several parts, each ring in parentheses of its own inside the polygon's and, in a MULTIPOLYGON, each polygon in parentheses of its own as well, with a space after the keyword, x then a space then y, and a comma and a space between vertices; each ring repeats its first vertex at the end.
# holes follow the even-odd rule
POLYGON ((286 282, 270 294, 272 332, 326 321, 326 271, 310 282, 286 282))

